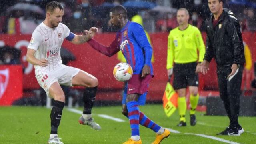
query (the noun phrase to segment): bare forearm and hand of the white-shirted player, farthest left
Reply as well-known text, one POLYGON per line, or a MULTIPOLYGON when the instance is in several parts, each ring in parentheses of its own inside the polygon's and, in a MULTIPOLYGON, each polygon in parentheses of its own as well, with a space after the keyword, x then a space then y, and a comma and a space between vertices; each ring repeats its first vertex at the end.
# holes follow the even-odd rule
POLYGON ((29 49, 27 51, 26 54, 26 60, 33 65, 38 65, 38 66, 47 66, 48 65, 48 60, 46 60, 45 58, 43 58, 42 60, 38 60, 37 58, 35 58, 34 54, 35 54, 36 50, 33 49, 29 49))

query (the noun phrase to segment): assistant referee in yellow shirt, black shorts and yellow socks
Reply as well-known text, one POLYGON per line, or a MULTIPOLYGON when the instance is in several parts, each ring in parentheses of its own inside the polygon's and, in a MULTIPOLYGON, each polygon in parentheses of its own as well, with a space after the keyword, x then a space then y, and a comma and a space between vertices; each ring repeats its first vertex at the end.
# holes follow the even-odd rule
POLYGON ((196 125, 196 106, 198 104, 198 74, 196 65, 204 59, 205 46, 197 27, 188 24, 189 14, 185 8, 177 11, 179 26, 170 31, 168 36, 167 72, 174 74, 173 87, 178 92, 178 111, 180 123, 186 126, 186 88, 190 92, 190 125, 196 125), (199 56, 198 56, 199 52, 199 56), (199 57, 199 58, 198 58, 199 57))

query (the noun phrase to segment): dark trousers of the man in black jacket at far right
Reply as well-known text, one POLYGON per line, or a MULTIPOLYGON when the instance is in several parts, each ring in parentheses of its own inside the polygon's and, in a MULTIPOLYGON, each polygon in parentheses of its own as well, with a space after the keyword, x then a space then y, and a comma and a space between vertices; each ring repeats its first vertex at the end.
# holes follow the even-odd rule
POLYGON ((239 125, 238 115, 240 107, 243 66, 240 66, 237 74, 235 74, 231 80, 228 80, 227 77, 231 71, 231 66, 217 66, 220 98, 228 114, 230 127, 236 128, 239 125))

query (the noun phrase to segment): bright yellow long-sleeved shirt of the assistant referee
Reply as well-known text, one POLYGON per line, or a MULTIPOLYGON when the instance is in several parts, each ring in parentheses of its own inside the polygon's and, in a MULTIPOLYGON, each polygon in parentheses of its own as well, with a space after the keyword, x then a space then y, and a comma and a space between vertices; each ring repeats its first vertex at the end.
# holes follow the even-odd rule
POLYGON ((168 36, 167 65, 170 69, 175 63, 202 62, 204 59, 205 46, 201 32, 197 27, 188 24, 185 30, 174 28, 168 36), (199 51, 199 59, 197 54, 199 51))

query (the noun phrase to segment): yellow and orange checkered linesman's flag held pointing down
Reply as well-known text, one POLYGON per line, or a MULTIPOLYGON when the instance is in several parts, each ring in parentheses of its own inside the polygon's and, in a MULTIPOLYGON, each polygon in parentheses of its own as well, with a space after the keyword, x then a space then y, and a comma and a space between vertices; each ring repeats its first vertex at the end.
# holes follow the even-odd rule
POLYGON ((164 112, 167 117, 170 117, 178 107, 178 94, 169 81, 167 82, 162 100, 164 112))

